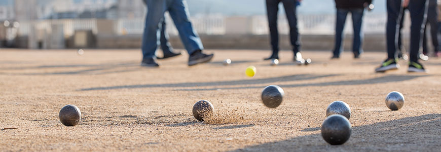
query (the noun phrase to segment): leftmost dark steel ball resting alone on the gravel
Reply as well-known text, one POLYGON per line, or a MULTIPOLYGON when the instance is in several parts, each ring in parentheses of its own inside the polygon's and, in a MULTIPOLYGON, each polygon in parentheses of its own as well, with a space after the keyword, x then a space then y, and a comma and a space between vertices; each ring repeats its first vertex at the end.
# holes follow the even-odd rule
POLYGON ((64 126, 75 126, 81 120, 81 111, 77 106, 68 104, 61 108, 58 117, 64 126))

